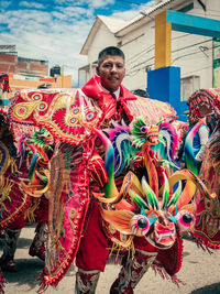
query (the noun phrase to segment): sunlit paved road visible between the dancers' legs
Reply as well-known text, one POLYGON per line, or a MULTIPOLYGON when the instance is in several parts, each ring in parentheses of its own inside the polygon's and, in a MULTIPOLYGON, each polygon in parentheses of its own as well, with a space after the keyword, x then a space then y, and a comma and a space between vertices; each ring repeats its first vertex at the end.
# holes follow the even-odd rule
MULTIPOLYGON (((29 255, 29 247, 34 236, 34 228, 22 230, 15 260, 20 268, 18 273, 4 273, 8 280, 6 294, 36 293, 38 286, 36 276, 43 270, 44 263, 29 255)), ((0 246, 1 249, 1 246, 0 246)), ((107 265, 101 274, 96 294, 108 294, 120 266, 107 265)), ((186 284, 177 287, 169 281, 162 280, 150 270, 136 286, 135 294, 220 294, 220 251, 209 254, 190 240, 184 240, 183 266, 178 277, 186 284)), ((69 269, 57 290, 50 287, 46 294, 73 294, 75 285, 75 268, 69 269)))

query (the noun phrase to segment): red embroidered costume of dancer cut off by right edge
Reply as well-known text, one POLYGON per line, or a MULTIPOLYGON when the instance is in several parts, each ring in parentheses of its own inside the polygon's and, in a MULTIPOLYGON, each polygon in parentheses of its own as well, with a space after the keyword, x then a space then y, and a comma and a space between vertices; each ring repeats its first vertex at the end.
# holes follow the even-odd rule
POLYGON ((196 225, 194 236, 205 246, 220 248, 220 89, 199 89, 188 99, 189 110, 197 111, 211 122, 213 131, 206 144, 199 177, 207 186, 211 198, 201 192, 196 197, 196 225), (215 123, 213 123, 215 122, 215 123), (216 127, 215 127, 216 126, 216 127))

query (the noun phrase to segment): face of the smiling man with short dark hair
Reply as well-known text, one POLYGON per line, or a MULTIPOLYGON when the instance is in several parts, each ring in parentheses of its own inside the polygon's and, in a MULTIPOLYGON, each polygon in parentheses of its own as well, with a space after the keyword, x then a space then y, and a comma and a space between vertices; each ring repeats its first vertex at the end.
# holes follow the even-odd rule
POLYGON ((121 56, 105 56, 96 69, 101 78, 101 85, 107 90, 112 92, 118 90, 125 75, 124 59, 121 56))

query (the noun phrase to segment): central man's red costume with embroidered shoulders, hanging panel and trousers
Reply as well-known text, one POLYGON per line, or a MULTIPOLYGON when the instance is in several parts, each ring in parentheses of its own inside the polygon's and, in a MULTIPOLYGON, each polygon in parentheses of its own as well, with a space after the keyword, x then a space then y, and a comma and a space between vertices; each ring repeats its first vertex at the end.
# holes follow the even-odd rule
MULTIPOLYGON (((18 123, 34 122, 50 130, 56 139, 50 163, 52 181, 48 181, 50 188, 46 194, 51 199, 50 233, 42 288, 50 284, 57 285, 76 257, 79 268, 76 292, 95 293, 98 274, 105 270, 109 257, 111 231, 103 222, 98 202, 92 196, 94 190, 97 192, 102 186, 106 188, 108 184, 106 165, 101 153, 98 152, 102 151, 102 145, 95 142, 94 130, 114 126, 113 122, 124 121, 129 124, 133 117, 141 113, 157 121, 158 111, 156 104, 155 107, 151 107, 151 101, 146 98, 136 98, 123 86, 120 86, 120 96, 117 100, 101 87, 98 76, 91 78, 82 91, 89 98, 80 95, 80 91, 74 96, 54 90, 48 91, 48 95, 41 91, 22 91, 11 107, 10 119, 18 123), (151 111, 154 116, 151 116, 151 111)), ((161 111, 161 108, 158 109, 161 111)), ((164 109, 166 110, 165 106, 164 109)), ((168 109, 169 111, 165 111, 166 116, 168 112, 173 113, 173 110, 168 109)), ((121 232, 117 233, 119 236, 121 232)), ((132 232, 129 246, 124 247, 125 252, 121 252, 123 257, 127 253, 132 255, 128 258, 119 279, 112 285, 111 293, 118 293, 122 284, 123 293, 133 293, 133 288, 155 258, 156 265, 164 266, 170 275, 180 268, 180 238, 163 253, 146 239, 138 236, 140 235, 132 232), (127 270, 130 273, 129 279, 127 270)))

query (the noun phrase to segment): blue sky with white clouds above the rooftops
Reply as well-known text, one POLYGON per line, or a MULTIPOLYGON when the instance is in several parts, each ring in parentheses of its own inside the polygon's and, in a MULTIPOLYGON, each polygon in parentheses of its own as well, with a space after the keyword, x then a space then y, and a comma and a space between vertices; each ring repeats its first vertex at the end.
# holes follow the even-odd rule
POLYGON ((0 0, 0 45, 15 45, 18 55, 64 66, 77 84, 87 64, 80 50, 97 15, 131 20, 155 0, 0 0))

